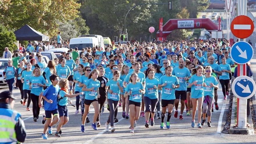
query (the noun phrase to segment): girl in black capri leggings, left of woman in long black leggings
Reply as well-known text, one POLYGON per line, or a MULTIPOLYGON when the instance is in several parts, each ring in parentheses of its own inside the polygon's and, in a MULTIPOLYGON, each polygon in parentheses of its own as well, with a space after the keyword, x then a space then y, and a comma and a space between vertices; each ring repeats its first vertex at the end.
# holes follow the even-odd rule
POLYGON ((27 103, 27 111, 30 111, 29 109, 29 105, 31 102, 31 97, 30 97, 30 92, 31 90, 29 89, 29 79, 33 76, 32 70, 31 70, 32 64, 31 63, 27 63, 27 68, 22 71, 21 74, 21 82, 23 83, 23 94, 24 94, 24 100, 23 100, 23 105, 26 104, 26 100, 28 100, 27 103))

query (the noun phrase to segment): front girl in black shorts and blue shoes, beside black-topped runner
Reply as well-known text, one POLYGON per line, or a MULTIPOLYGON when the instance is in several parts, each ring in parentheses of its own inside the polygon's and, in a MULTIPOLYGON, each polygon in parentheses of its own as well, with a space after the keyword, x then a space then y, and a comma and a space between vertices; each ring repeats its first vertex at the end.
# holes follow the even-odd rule
POLYGON ((84 123, 89 113, 91 104, 93 104, 94 111, 95 111, 93 116, 92 128, 94 130, 97 130, 96 119, 99 114, 99 103, 98 103, 97 97, 100 97, 99 87, 101 86, 100 82, 97 80, 98 76, 99 76, 99 71, 97 69, 94 69, 90 73, 88 77, 88 81, 86 81, 86 83, 82 88, 83 91, 86 91, 86 94, 85 94, 85 102, 84 102, 85 109, 84 109, 84 114, 82 118, 81 132, 84 132, 84 123))

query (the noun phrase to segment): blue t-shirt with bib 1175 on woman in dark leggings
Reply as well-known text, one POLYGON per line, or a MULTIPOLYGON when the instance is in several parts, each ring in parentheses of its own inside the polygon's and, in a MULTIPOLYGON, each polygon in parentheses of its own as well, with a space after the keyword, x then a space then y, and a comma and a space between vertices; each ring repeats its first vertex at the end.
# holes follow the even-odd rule
POLYGON ((120 95, 120 89, 117 86, 117 83, 119 83, 120 87, 123 86, 123 82, 121 79, 118 79, 117 81, 114 81, 114 79, 111 79, 107 82, 106 86, 109 86, 109 89, 113 91, 113 93, 108 92, 108 99, 112 99, 115 101, 119 101, 119 95, 120 95))

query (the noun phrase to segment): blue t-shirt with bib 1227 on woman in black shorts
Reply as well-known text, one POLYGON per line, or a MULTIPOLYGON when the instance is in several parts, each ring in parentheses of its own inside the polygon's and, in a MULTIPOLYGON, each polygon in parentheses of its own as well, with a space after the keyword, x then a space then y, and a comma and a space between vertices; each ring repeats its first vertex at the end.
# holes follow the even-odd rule
POLYGON ((139 90, 142 90, 142 89, 144 88, 141 82, 137 82, 136 84, 129 83, 125 88, 125 92, 129 93, 131 91, 129 100, 134 102, 141 102, 142 93, 139 93, 139 90))

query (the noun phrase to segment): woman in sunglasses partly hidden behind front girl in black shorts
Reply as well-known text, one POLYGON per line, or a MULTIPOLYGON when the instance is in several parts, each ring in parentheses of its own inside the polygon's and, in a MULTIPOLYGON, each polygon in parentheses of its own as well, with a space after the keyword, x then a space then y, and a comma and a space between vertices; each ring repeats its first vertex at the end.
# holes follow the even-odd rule
MULTIPOLYGON (((82 76, 78 80, 79 81, 79 85, 78 86, 80 87, 81 91, 84 93, 83 95, 80 95, 81 115, 82 115, 82 117, 83 117, 83 113, 84 113, 84 100, 85 100, 85 93, 86 93, 86 91, 83 91, 82 88, 85 85, 85 83, 88 81, 88 77, 89 77, 89 75, 91 73, 91 68, 86 66, 86 67, 83 68, 83 72, 84 72, 84 74, 82 74, 82 76)), ((87 116, 86 117, 86 123, 89 123, 89 122, 90 122, 90 120, 89 120, 89 118, 87 116)))

